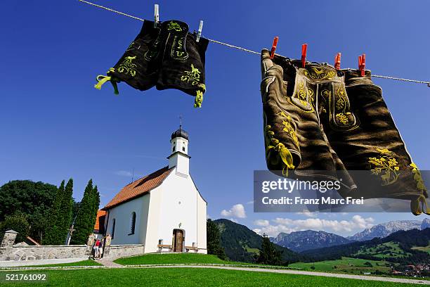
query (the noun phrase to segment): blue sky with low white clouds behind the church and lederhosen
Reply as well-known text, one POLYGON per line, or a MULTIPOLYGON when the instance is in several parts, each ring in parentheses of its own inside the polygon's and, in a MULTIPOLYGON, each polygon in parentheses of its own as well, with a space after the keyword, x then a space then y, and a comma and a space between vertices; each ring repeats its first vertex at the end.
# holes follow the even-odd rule
MULTIPOLYGON (((155 4, 96 3, 147 19, 155 4)), ((254 51, 270 48, 279 36, 277 52, 291 58, 299 58, 301 44, 308 43, 308 60, 332 63, 340 51, 341 67, 356 68, 358 55, 366 53, 366 68, 375 75, 430 79, 428 1, 157 3, 160 20, 183 20, 197 30, 202 19, 207 37, 254 51)), ((311 228, 343 235, 391 219, 424 218, 254 214, 253 171, 266 169, 257 55, 209 44, 207 93, 197 110, 192 97, 176 90, 141 92, 122 83, 114 96, 109 85, 93 88, 96 75, 116 63, 141 29, 139 21, 74 0, 5 1, 2 12, 0 184, 32 179, 58 185, 73 177, 74 197, 80 200, 92 178, 103 205, 131 181, 133 168, 141 176, 167 165, 170 134, 183 115, 190 169, 211 218, 233 218, 271 234, 311 228)), ((374 82, 382 86, 415 162, 430 170, 430 88, 374 82)))

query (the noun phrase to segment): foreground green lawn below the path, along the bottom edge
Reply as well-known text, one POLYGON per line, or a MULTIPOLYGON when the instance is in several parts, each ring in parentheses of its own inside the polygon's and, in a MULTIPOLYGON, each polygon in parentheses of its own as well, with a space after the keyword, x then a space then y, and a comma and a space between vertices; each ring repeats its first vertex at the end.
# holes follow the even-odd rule
MULTIPOLYGON (((0 272, 4 283, 6 273, 0 272)), ((6 282, 4 286, 324 286, 324 287, 398 287, 414 286, 381 281, 340 279, 335 277, 247 272, 224 269, 162 268, 162 269, 82 269, 17 272, 46 274, 46 283, 6 282)))

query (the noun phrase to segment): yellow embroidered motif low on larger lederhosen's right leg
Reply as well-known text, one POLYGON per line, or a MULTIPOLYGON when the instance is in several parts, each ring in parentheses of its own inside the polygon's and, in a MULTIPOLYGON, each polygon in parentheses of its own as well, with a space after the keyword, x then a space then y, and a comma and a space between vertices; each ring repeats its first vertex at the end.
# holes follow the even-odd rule
POLYGON ((384 148, 374 147, 379 152, 379 158, 369 158, 372 174, 380 174, 382 186, 393 184, 398 179, 400 167, 395 158, 396 153, 384 148))

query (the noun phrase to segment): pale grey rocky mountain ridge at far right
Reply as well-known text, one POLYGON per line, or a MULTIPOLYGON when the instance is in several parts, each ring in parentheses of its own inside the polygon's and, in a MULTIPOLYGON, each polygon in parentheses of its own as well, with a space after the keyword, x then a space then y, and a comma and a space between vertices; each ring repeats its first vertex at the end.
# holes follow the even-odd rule
POLYGON ((377 224, 346 238, 350 241, 366 241, 375 237, 383 238, 400 230, 422 229, 421 226, 422 222, 417 220, 396 220, 377 224))

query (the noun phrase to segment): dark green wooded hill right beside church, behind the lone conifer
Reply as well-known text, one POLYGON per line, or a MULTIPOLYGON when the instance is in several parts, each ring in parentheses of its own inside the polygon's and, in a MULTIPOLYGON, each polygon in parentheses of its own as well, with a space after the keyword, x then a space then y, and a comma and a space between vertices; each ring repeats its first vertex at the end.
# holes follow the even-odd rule
MULTIPOLYGON (((214 220, 218 224, 221 233, 221 245, 226 251, 230 260, 242 262, 254 262, 254 255, 259 252, 263 237, 254 231, 237 224, 228 219, 214 220)), ((287 262, 297 262, 304 256, 289 250, 280 245, 275 245, 282 252, 282 260, 287 262)))

